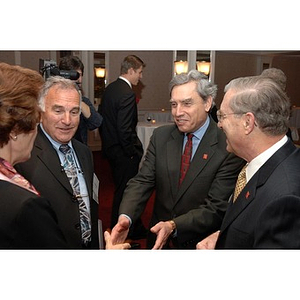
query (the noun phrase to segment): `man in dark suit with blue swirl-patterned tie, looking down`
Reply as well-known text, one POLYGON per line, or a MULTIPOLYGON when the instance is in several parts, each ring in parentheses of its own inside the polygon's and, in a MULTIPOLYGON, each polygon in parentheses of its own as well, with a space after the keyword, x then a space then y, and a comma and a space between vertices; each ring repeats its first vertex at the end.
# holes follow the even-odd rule
POLYGON ((89 148, 72 139, 80 115, 80 92, 76 83, 62 77, 50 77, 42 90, 39 105, 41 124, 34 143, 31 158, 16 165, 16 169, 49 199, 58 219, 68 247, 72 249, 99 249, 98 204, 93 200, 93 159, 89 148), (63 167, 60 145, 68 144, 76 162, 80 194, 70 184, 63 167), (78 199, 78 198, 81 199, 78 199), (82 238, 79 200, 85 203, 85 211, 91 230, 86 240, 82 238))

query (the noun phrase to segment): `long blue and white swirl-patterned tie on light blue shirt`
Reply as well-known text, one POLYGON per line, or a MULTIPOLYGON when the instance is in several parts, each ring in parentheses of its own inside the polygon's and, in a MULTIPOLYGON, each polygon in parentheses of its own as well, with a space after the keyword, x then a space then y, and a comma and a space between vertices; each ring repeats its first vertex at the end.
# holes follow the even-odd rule
POLYGON ((85 202, 83 201, 82 196, 80 194, 76 164, 73 159, 72 149, 69 145, 63 144, 59 147, 59 150, 64 154, 63 167, 72 186, 73 193, 76 199, 78 200, 81 236, 83 243, 86 244, 91 239, 91 221, 85 202))

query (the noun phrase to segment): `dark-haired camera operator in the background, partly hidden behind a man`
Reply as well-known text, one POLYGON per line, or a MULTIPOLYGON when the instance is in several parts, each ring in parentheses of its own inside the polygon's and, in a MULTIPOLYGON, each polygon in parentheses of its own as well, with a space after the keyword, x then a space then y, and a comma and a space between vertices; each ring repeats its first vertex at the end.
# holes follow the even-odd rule
POLYGON ((84 96, 84 92, 82 91, 84 65, 82 61, 79 59, 79 57, 69 55, 61 58, 59 62, 59 69, 75 70, 79 73, 79 78, 76 80, 76 83, 82 93, 82 102, 81 102, 80 122, 74 138, 87 145, 88 130, 94 130, 99 128, 102 124, 103 118, 96 111, 91 101, 84 96))

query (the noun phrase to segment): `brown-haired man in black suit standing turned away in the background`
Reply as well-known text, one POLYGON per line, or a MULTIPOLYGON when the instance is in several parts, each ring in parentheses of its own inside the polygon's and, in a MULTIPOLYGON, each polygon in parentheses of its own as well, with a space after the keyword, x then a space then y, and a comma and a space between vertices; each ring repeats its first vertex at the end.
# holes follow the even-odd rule
MULTIPOLYGON (((132 85, 142 78, 144 62, 135 55, 124 58, 121 76, 105 89, 101 114, 101 138, 104 155, 108 158, 115 184, 111 228, 117 223, 119 206, 129 179, 136 175, 143 155, 143 146, 136 132, 138 122, 136 96, 132 85)), ((132 228, 131 238, 145 234, 139 219, 132 228)))

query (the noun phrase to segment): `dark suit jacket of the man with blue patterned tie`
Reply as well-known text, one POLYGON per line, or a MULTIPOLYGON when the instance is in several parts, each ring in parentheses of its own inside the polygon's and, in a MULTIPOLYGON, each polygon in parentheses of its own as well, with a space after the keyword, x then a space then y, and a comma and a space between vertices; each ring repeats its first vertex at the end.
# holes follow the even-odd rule
MULTIPOLYGON (((93 158, 89 148, 72 139, 73 148, 83 171, 91 209, 92 248, 99 248, 98 204, 92 199, 93 158)), ((39 127, 31 158, 15 166, 42 196, 49 199, 58 219, 58 224, 72 249, 80 249, 81 233, 78 201, 73 196, 69 180, 63 172, 56 150, 39 127)))

